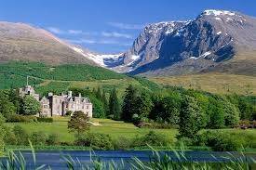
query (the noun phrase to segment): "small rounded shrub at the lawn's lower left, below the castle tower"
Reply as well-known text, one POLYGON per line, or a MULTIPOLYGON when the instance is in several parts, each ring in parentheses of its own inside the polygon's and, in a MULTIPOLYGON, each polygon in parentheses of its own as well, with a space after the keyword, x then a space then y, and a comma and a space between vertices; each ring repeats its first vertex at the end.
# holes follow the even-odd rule
POLYGON ((17 139, 17 145, 28 145, 29 135, 20 125, 13 127, 13 133, 17 139))

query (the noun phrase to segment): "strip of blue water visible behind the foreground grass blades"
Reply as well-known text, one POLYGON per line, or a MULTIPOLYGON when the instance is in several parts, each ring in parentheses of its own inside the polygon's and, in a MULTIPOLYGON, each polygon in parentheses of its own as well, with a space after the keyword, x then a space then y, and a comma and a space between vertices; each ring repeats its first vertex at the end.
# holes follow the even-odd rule
MULTIPOLYGON (((161 151, 160 153, 168 153, 173 161, 178 161, 173 151, 161 151)), ((33 154, 31 151, 22 151, 22 155, 26 160, 27 169, 32 169, 34 166, 33 154)), ((100 159, 102 162, 121 163, 121 160, 128 165, 132 158, 136 157, 141 161, 149 161, 150 157, 153 156, 150 150, 42 150, 36 152, 36 165, 46 164, 51 169, 64 170, 67 169, 66 161, 63 157, 71 157, 77 163, 85 165, 91 164, 91 158, 100 159)), ((227 162, 228 159, 223 157, 230 157, 228 152, 216 152, 216 151, 185 151, 186 158, 188 161, 196 162, 227 162)), ((242 155, 238 152, 232 152, 232 155, 241 157, 242 155)), ((247 158, 256 159, 256 154, 248 154, 247 158)))

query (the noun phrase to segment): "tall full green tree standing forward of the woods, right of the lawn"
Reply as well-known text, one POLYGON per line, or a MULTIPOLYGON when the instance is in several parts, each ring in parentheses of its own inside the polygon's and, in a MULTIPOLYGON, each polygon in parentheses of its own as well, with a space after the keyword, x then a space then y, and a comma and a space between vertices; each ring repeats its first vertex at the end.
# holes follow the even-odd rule
POLYGON ((182 111, 180 113, 179 133, 181 137, 195 137, 195 134, 202 128, 203 113, 195 98, 184 96, 182 111))

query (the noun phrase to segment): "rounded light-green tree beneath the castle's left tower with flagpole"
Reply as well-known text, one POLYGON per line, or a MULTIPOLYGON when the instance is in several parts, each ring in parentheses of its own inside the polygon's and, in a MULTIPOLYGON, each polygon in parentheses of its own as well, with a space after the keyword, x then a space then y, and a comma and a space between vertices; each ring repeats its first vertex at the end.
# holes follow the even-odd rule
POLYGON ((23 98, 22 114, 35 115, 41 111, 40 103, 32 96, 23 98))

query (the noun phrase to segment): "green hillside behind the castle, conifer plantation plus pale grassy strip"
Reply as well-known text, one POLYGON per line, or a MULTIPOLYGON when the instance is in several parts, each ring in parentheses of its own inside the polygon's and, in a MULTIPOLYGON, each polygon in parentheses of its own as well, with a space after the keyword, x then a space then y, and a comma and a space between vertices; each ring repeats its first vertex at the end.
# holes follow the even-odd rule
POLYGON ((153 91, 159 89, 155 83, 141 77, 109 71, 87 64, 65 64, 49 66, 37 62, 0 63, 0 89, 17 88, 29 84, 35 86, 36 92, 46 95, 52 91, 61 93, 69 88, 98 88, 110 92, 116 88, 119 95, 124 94, 128 85, 153 91))

